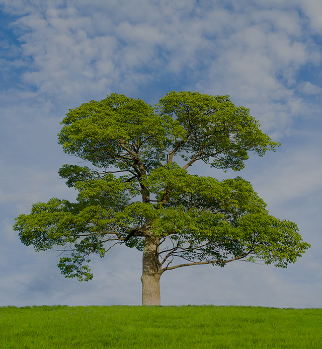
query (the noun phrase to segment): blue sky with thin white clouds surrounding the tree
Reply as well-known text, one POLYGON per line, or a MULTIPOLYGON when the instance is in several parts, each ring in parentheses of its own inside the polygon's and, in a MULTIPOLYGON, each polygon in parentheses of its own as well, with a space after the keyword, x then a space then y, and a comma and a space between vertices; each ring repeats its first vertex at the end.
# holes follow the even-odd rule
POLYGON ((0 0, 0 306, 141 304, 141 253, 92 258, 92 281, 64 278, 58 252, 13 231, 37 201, 74 199, 57 171, 69 108, 116 92, 155 104, 170 91, 229 95, 282 145, 239 173, 311 248, 286 269, 235 261, 161 278, 162 305, 321 308, 320 0, 0 0))

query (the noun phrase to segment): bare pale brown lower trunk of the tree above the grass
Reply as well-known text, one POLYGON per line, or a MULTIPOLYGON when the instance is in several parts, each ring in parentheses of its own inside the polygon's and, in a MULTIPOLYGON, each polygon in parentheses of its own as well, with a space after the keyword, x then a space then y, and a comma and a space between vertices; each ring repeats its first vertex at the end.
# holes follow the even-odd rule
POLYGON ((142 258, 142 305, 160 305, 159 238, 146 236, 142 258))

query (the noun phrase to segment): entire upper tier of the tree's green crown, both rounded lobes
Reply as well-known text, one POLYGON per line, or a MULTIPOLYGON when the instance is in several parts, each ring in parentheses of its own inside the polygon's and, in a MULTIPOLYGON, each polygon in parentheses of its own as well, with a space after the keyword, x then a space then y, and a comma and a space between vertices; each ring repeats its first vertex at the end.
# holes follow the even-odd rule
POLYGON ((260 156, 273 142, 244 107, 228 96, 171 92, 154 108, 142 100, 111 94, 70 109, 62 122, 59 144, 68 154, 98 167, 132 169, 133 161, 149 172, 180 155, 219 169, 244 168, 248 152, 260 156))

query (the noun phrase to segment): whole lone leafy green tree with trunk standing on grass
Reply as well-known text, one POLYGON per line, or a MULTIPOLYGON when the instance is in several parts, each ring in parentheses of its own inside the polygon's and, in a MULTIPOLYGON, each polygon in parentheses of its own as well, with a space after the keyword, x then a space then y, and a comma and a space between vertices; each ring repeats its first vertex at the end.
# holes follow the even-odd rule
POLYGON ((111 94, 69 109, 61 124, 63 151, 92 164, 59 169, 77 202, 37 202, 14 229, 36 251, 65 246, 65 277, 88 281, 92 253, 134 247, 143 252, 142 305, 159 305, 166 270, 238 259, 286 267, 309 247, 246 180, 188 173, 200 161, 239 171, 249 152, 279 146, 228 96, 173 91, 152 107, 111 94))

